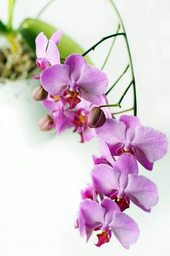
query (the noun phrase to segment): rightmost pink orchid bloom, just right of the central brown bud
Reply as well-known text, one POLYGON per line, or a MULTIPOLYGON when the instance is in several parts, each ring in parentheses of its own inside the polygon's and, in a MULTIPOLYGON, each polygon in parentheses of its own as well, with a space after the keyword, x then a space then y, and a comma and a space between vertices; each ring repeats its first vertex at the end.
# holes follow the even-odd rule
POLYGON ((149 126, 142 126, 136 116, 122 115, 119 121, 106 119, 105 125, 95 129, 96 135, 107 143, 112 155, 129 152, 147 170, 153 162, 167 153, 167 137, 149 126))

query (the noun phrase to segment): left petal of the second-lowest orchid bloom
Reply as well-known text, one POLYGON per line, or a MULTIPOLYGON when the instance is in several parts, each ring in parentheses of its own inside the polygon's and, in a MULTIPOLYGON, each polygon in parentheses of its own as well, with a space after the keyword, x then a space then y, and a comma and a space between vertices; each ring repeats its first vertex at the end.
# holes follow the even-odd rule
POLYGON ((98 164, 94 166, 91 175, 95 186, 99 191, 110 197, 116 190, 119 190, 119 170, 112 168, 107 164, 98 164))

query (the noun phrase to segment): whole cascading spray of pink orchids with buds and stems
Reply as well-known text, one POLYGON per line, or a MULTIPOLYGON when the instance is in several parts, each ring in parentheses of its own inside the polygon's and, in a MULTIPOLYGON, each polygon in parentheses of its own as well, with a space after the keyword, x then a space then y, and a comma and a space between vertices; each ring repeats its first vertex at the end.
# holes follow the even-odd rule
POLYGON ((125 210, 133 202, 143 211, 151 212, 159 199, 156 184, 139 174, 138 162, 152 171, 154 162, 167 152, 167 138, 160 131, 143 126, 136 116, 136 87, 127 35, 116 6, 112 0, 110 2, 119 19, 116 33, 102 38, 82 55, 73 53, 65 59, 60 58, 57 46, 62 30, 55 32, 49 41, 43 33, 37 36, 36 63, 42 72, 40 76, 34 75, 34 79, 40 79, 41 85, 33 91, 33 98, 42 100, 50 111, 39 122, 42 131, 55 128, 59 135, 72 127, 74 132, 80 134, 81 143, 98 137, 100 156, 92 156, 91 183, 81 190, 82 202, 75 227, 79 229, 80 236, 86 236, 87 241, 92 232, 97 232, 97 247, 108 243, 114 234, 128 249, 130 244, 136 243, 139 227, 125 210), (107 90, 108 77, 102 70, 118 36, 125 39, 129 63, 107 90), (112 37, 108 56, 99 70, 84 57, 112 37), (117 103, 108 104, 106 96, 128 69, 131 73, 129 85, 117 103), (131 86, 133 108, 117 113, 133 110, 134 115, 124 114, 117 120, 110 108, 121 108, 121 102, 131 86))

